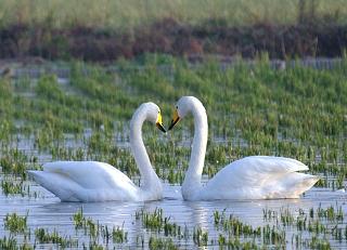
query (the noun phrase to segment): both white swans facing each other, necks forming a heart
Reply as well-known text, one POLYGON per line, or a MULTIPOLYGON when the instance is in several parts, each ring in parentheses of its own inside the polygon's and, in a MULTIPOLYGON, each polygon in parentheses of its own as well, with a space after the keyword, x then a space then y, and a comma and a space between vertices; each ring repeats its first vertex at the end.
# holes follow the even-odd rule
MULTIPOLYGON (((298 198, 311 188, 318 176, 298 173, 308 167, 291 158, 249 156, 221 169, 205 185, 202 173, 207 145, 207 115, 193 96, 181 97, 169 130, 187 115, 194 117, 194 139, 188 171, 182 184, 185 200, 298 198)), ((97 161, 55 161, 43 171, 29 171, 36 182, 62 201, 145 201, 163 198, 160 180, 154 172, 142 141, 142 124, 155 123, 163 132, 160 109, 153 103, 142 104, 130 122, 130 146, 141 174, 141 186, 119 170, 97 161)))

